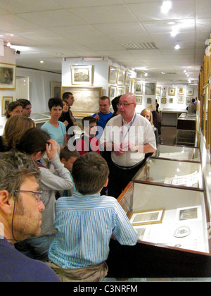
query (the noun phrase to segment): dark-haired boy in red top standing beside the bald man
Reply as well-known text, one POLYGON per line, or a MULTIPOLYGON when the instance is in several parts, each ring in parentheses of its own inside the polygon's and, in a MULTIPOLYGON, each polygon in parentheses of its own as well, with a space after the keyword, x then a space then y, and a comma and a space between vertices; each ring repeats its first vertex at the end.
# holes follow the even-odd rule
POLYGON ((87 152, 97 152, 100 154, 100 146, 98 138, 96 137, 97 132, 97 120, 91 116, 84 117, 82 119, 82 125, 84 133, 75 141, 76 150, 80 155, 86 154, 87 152))

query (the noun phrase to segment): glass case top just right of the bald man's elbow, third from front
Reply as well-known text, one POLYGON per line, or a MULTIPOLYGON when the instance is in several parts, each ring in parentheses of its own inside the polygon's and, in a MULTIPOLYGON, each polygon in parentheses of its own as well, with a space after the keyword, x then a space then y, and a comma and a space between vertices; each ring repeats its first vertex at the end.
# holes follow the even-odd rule
POLYGON ((173 159, 177 161, 201 161, 199 148, 172 145, 159 145, 152 157, 159 159, 173 159))

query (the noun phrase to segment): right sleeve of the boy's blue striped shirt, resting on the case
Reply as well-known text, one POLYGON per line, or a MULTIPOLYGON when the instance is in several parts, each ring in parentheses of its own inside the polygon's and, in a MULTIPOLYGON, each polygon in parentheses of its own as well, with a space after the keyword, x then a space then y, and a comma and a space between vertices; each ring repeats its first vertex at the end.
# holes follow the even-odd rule
POLYGON ((138 233, 130 223, 129 218, 124 213, 122 206, 115 201, 115 214, 113 216, 115 227, 113 228, 113 235, 120 245, 136 245, 138 240, 138 233))

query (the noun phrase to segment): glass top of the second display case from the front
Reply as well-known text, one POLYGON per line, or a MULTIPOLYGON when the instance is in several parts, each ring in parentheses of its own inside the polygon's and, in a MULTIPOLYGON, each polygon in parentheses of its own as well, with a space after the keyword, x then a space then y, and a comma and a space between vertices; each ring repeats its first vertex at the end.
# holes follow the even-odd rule
POLYGON ((148 159, 133 178, 135 183, 203 190, 201 165, 196 162, 148 159))

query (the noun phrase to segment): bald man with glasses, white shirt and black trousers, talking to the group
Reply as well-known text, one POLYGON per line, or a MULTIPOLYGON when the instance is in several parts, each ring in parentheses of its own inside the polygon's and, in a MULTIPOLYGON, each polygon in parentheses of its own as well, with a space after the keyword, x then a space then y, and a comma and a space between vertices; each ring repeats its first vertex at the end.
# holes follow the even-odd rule
POLYGON ((146 153, 156 151, 151 123, 136 113, 136 97, 124 94, 117 104, 119 116, 110 119, 101 137, 101 146, 111 151, 108 195, 119 197, 143 165, 146 153))

